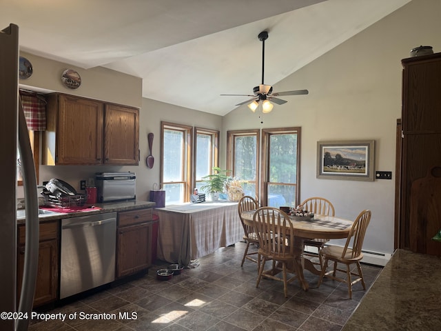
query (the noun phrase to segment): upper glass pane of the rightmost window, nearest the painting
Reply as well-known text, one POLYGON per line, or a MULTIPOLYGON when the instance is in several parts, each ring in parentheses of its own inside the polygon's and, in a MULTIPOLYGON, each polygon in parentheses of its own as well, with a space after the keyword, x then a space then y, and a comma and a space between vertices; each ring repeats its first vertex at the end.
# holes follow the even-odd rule
POLYGON ((271 134, 269 139, 269 181, 297 181, 297 134, 271 134))

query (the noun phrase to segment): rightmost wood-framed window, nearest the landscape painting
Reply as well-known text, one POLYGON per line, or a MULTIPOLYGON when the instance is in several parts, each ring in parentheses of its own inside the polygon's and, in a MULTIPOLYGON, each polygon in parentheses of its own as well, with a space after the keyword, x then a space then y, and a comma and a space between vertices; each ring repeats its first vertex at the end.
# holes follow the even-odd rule
POLYGON ((300 128, 263 130, 266 205, 295 207, 299 196, 300 128))

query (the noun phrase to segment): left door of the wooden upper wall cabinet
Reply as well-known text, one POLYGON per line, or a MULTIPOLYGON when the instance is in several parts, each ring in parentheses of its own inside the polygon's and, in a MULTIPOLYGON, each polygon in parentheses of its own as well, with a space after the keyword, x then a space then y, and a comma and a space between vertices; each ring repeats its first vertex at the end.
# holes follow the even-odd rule
POLYGON ((57 164, 102 163, 103 103, 59 96, 57 164))

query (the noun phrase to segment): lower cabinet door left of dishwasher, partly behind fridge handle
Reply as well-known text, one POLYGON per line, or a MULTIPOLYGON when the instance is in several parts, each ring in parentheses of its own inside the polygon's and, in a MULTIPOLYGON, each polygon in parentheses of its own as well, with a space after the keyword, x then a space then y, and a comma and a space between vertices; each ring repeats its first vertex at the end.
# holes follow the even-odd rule
MULTIPOLYGON (((35 283, 34 307, 57 300, 58 241, 52 239, 39 244, 39 264, 35 283)), ((17 291, 21 292, 24 265, 24 245, 19 246, 17 291)))

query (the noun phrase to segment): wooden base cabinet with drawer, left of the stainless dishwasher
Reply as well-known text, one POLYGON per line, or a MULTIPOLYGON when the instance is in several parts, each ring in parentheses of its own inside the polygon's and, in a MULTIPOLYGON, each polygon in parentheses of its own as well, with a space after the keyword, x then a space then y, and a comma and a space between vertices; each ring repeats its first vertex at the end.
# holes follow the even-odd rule
MULTIPOLYGON (((35 284, 34 307, 57 300, 59 241, 58 221, 40 223, 39 260, 35 284)), ((21 292, 25 251, 25 225, 18 228, 17 293, 21 292)))

